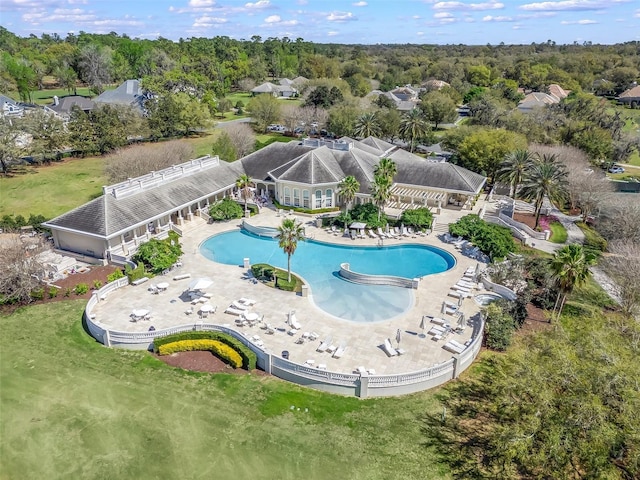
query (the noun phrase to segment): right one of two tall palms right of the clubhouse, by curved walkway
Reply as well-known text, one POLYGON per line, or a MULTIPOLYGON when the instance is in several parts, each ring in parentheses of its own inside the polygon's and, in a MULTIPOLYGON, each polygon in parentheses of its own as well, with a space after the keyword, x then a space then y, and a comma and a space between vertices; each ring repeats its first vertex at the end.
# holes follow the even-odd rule
POLYGON ((531 164, 523 181, 520 194, 527 201, 535 201, 537 227, 544 197, 555 203, 560 203, 566 198, 569 184, 567 170, 556 161, 555 155, 544 155, 531 164))

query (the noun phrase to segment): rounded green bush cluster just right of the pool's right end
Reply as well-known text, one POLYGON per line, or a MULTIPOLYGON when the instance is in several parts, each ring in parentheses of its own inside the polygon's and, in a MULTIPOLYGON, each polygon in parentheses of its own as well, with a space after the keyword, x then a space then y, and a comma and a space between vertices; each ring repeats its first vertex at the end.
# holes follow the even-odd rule
POLYGON ((478 215, 466 215, 449 225, 449 232, 469 240, 492 260, 499 260, 515 252, 511 230, 482 220, 478 215))

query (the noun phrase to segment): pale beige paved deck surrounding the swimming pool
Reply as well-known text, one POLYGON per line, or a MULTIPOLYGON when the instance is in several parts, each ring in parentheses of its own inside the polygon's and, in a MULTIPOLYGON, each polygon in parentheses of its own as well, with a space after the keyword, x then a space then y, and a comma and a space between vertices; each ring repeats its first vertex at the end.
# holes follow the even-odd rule
MULTIPOLYGON (((455 216, 468 213, 470 212, 460 212, 455 216)), ((311 217, 301 215, 288 217, 301 221, 306 227, 307 235, 319 241, 345 245, 377 245, 377 240, 372 238, 351 240, 341 235, 334 236, 325 232, 324 229, 315 227, 311 217)), ((267 208, 261 209, 258 215, 249 219, 252 225, 270 227, 276 227, 281 221, 282 217, 267 208)), ((181 259, 182 266, 165 276, 155 277, 138 286, 129 285, 110 293, 105 301, 99 302, 94 308, 93 313, 96 315, 96 320, 111 330, 126 332, 146 332, 151 325, 156 330, 160 330, 175 325, 197 324, 199 322, 228 324, 249 338, 259 335, 264 342, 264 349, 273 354, 279 355, 283 350, 287 350, 291 361, 304 363, 307 360, 313 360, 315 365, 325 364, 330 371, 345 373, 351 373, 359 366, 375 369, 377 374, 413 372, 452 357, 450 352, 442 348, 446 340, 433 341, 430 336, 421 338, 418 335, 421 333, 420 321, 423 315, 430 315, 447 319, 452 324, 455 323, 454 317, 441 313, 442 303, 444 300, 457 303, 455 298, 447 296, 449 289, 462 277, 466 268, 475 267, 477 261, 465 257, 453 245, 441 241, 437 235, 385 240, 385 245, 410 243, 433 245, 451 253, 456 258, 457 264, 446 272, 424 277, 419 287, 414 290, 415 304, 406 314, 391 320, 366 324, 328 315, 313 303, 311 298, 313 292, 309 298, 305 298, 300 294, 275 290, 261 283, 251 283, 242 278, 246 272, 242 266, 218 264, 207 260, 200 254, 199 246, 207 238, 239 227, 240 221, 210 225, 200 221, 195 227, 187 227, 181 239, 184 252, 181 259), (174 276, 185 273, 189 273, 191 277, 184 280, 173 280, 174 276), (197 305, 194 306, 196 313, 185 314, 185 311, 192 305, 189 299, 183 295, 188 284, 199 277, 209 277, 213 280, 213 285, 206 291, 211 294, 210 303, 217 306, 215 314, 209 314, 207 318, 203 319, 199 318, 197 305), (169 283, 166 291, 157 295, 148 291, 150 284, 161 282, 169 283), (267 335, 265 330, 258 326, 235 327, 234 320, 237 317, 225 314, 224 310, 231 302, 241 297, 256 300, 251 311, 264 315, 265 322, 276 327, 275 334, 267 335), (150 310, 151 319, 131 322, 129 315, 133 309, 150 310), (302 324, 302 329, 295 336, 286 333, 288 329, 287 314, 291 310, 296 311, 296 318, 302 324), (386 338, 389 338, 393 346, 396 347, 395 338, 398 329, 401 331, 400 347, 406 353, 387 357, 380 345, 386 338), (319 338, 316 341, 296 344, 295 341, 303 332, 315 332, 319 338), (328 353, 316 352, 320 342, 326 338, 331 338, 335 346, 346 345, 346 351, 341 358, 337 359, 328 353)), ((295 254, 292 263, 295 271, 295 254)), ((473 291, 472 295, 480 292, 473 291)), ((354 303, 353 308, 366 308, 366 305, 354 303)), ((478 319, 480 307, 473 298, 467 298, 463 301, 460 311, 471 322, 474 321, 473 319, 478 319)), ((426 330, 428 331, 429 328, 427 326, 426 330)), ((470 338, 472 331, 473 328, 468 323, 464 333, 451 333, 448 338, 463 343, 470 338)))

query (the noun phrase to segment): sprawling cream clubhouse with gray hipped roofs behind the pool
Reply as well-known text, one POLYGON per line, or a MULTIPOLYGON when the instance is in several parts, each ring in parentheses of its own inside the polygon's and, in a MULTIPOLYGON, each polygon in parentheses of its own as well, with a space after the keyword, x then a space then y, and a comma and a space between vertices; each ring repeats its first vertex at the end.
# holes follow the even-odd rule
POLYGON ((371 202, 374 168, 392 159, 397 174, 389 206, 471 208, 486 178, 448 162, 431 162, 383 140, 304 139, 273 143, 236 162, 202 157, 103 187, 103 194, 44 225, 55 246, 89 263, 124 263, 138 246, 183 233, 208 219, 209 206, 239 198, 236 180, 251 177, 255 195, 283 206, 314 210, 340 207, 338 184, 346 176, 360 183, 355 203, 371 202))

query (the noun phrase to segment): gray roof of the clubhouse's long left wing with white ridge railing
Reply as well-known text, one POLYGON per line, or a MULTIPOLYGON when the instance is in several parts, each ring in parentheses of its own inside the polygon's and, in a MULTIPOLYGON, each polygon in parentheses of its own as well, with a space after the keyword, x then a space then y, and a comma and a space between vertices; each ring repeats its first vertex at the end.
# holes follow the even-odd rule
POLYGON ((54 218, 46 225, 109 238, 225 189, 235 184, 241 173, 242 166, 239 163, 220 162, 220 165, 203 170, 198 175, 180 177, 124 198, 102 195, 54 218))

